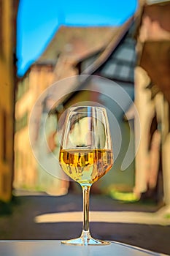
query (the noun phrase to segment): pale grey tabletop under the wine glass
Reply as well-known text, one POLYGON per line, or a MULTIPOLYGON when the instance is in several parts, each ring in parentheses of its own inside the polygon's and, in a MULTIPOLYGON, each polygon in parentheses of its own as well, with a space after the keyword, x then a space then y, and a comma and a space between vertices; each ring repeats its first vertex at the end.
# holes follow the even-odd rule
POLYGON ((0 241, 1 256, 146 256, 163 254, 111 241, 104 246, 74 246, 59 240, 0 241))

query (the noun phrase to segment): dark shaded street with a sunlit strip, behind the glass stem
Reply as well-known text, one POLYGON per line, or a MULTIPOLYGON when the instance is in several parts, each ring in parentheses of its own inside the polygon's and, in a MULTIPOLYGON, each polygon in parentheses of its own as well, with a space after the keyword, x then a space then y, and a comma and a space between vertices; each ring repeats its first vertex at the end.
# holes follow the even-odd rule
MULTIPOLYGON (((90 233, 95 238, 120 241, 170 255, 170 219, 167 216, 163 225, 159 219, 158 224, 156 221, 149 223, 150 219, 157 218, 154 215, 157 210, 158 206, 153 203, 120 203, 104 195, 91 195, 90 233), (140 217, 139 222, 136 214, 140 217)), ((0 216, 0 239, 62 240, 80 236, 81 211, 82 197, 78 194, 69 192, 60 197, 20 195, 15 197, 12 213, 0 216)))

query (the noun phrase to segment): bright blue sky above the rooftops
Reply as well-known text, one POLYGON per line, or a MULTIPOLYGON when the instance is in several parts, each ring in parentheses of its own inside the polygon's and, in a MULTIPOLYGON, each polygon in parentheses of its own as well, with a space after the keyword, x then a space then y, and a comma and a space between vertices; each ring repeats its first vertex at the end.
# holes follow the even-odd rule
POLYGON ((42 55, 61 25, 118 26, 134 14, 137 0, 20 0, 18 76, 42 55))

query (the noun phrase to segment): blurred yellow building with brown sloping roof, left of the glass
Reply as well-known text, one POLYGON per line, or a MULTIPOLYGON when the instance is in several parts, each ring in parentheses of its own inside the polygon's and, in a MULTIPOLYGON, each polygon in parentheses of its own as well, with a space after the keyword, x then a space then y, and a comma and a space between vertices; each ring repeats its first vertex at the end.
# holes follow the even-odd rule
MULTIPOLYGON (((45 53, 18 81, 15 105, 15 188, 39 189, 50 193, 56 191, 55 178, 45 170, 39 171, 39 164, 31 150, 28 132, 31 110, 42 92, 48 89, 53 82, 77 75, 77 70, 74 69, 77 60, 93 50, 104 47, 107 40, 112 37, 112 31, 112 28, 68 28, 62 26, 45 53), (106 35, 105 39, 103 39, 104 34, 106 35)), ((36 142, 39 137, 42 112, 43 102, 37 109, 39 121, 36 120, 34 126, 36 142)))

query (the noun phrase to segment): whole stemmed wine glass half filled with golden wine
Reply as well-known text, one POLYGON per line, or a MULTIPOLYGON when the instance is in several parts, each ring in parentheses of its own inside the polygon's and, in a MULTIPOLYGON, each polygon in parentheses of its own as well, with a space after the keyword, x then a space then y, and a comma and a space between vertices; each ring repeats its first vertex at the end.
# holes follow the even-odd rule
POLYGON ((90 236, 90 187, 104 176, 113 165, 112 140, 107 111, 101 107, 79 106, 69 108, 63 125, 59 163, 63 171, 82 187, 83 227, 79 238, 62 241, 63 244, 104 245, 90 236))

